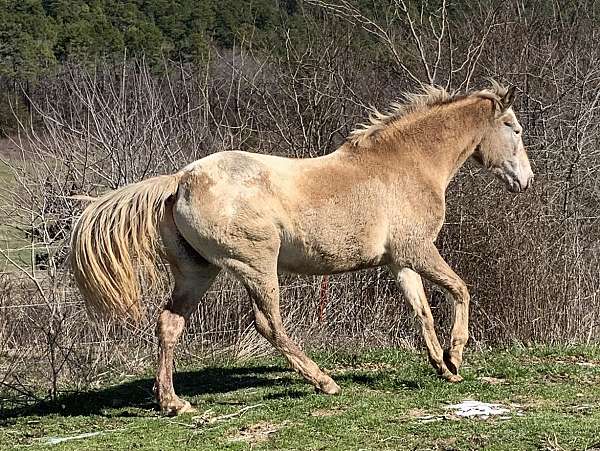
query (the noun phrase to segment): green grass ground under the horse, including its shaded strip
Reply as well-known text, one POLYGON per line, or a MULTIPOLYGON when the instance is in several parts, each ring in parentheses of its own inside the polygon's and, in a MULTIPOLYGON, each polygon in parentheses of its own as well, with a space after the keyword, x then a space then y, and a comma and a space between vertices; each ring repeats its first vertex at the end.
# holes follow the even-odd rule
POLYGON ((600 448, 600 349, 472 353, 465 382, 432 374, 400 350, 317 355, 343 394, 314 393, 281 359, 180 371, 176 388, 197 408, 160 416, 152 379, 65 395, 55 405, 5 412, 0 449, 582 450, 600 448), (503 384, 480 380, 504 379, 503 384), (465 399, 518 404, 506 419, 458 419, 465 399), (253 406, 240 415, 236 414, 253 406), (522 415, 517 415, 521 411, 522 415), (420 417, 433 415, 433 422, 420 417), (102 435, 44 445, 48 437, 102 435))

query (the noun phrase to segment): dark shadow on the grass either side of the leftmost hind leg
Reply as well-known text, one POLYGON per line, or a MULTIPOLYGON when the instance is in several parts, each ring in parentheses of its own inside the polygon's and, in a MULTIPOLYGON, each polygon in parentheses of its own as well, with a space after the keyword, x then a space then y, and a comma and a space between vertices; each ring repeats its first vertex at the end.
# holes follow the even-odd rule
MULTIPOLYGON (((289 396, 289 386, 297 382, 291 370, 279 366, 254 366, 247 368, 204 368, 174 374, 178 395, 191 398, 198 395, 228 393, 248 387, 266 388, 281 386, 289 396), (290 373, 274 377, 273 373, 290 373)), ((26 407, 0 410, 0 425, 8 420, 29 415, 108 415, 147 416, 137 409, 154 409, 157 405, 152 394, 153 378, 136 379, 101 390, 64 393, 56 401, 40 401, 26 407), (108 410, 107 412, 107 409, 108 410)), ((295 396, 300 396, 298 393, 295 396)))

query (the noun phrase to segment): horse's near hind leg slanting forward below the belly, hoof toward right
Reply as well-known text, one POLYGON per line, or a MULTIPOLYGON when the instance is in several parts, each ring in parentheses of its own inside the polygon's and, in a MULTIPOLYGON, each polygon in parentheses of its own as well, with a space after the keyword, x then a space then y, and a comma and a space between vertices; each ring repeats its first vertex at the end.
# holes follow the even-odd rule
POLYGON ((339 393, 340 387, 292 341, 283 327, 279 311, 276 263, 269 272, 256 270, 245 264, 236 266, 233 272, 244 284, 252 300, 256 330, 317 390, 330 395, 339 393))

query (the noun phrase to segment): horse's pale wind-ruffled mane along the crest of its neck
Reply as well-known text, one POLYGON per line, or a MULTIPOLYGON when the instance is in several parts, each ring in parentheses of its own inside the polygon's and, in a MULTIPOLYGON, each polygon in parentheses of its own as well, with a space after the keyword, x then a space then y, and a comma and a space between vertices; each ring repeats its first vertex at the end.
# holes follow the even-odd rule
POLYGON ((449 93, 440 86, 425 85, 421 92, 404 93, 400 102, 392 102, 388 110, 384 113, 375 107, 369 109, 368 123, 359 124, 348 136, 348 142, 353 146, 360 146, 368 143, 380 131, 387 128, 392 122, 409 114, 426 111, 432 107, 446 105, 467 97, 481 97, 500 102, 506 95, 508 89, 491 80, 491 87, 479 91, 473 91, 467 94, 458 92, 449 93))

